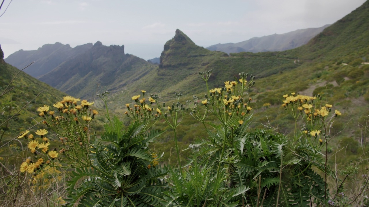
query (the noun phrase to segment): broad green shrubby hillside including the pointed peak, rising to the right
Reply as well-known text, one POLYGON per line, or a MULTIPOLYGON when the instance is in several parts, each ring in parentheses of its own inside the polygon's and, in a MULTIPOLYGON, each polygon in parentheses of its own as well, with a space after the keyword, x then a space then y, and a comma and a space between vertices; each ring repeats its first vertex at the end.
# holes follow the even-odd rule
MULTIPOLYGON (((182 100, 192 99, 192 95, 203 98, 205 85, 197 76, 199 71, 213 69, 210 88, 221 87, 224 81, 245 72, 256 76, 255 86, 246 93, 246 97, 253 99, 250 104, 254 112, 253 127, 261 127, 259 123, 264 123, 289 134, 293 131, 293 120, 280 107, 282 96, 290 92, 321 94, 326 102, 347 115, 332 125, 331 134, 336 137, 332 147, 338 147, 339 141, 345 137, 357 137, 351 141, 356 146, 361 137, 357 124, 365 126, 366 115, 369 114, 369 67, 362 64, 369 58, 369 43, 365 38, 369 36, 368 4, 369 1, 325 28, 307 45, 282 52, 241 52, 228 56, 222 52, 203 50, 177 30, 175 37, 165 44, 159 67, 128 87, 130 94, 113 94, 111 104, 117 108, 129 103, 130 96, 139 94, 142 89, 158 93, 165 99, 172 98, 174 91, 183 92, 182 100), (334 35, 325 35, 331 31, 335 32, 334 35), (341 132, 346 127, 351 130, 341 132)), ((123 113, 124 109, 120 112, 123 113)), ((185 126, 178 133, 183 148, 197 136, 206 136, 192 117, 186 117, 183 123, 185 126)), ((165 124, 159 127, 165 127, 165 124)), ((168 137, 172 135, 173 132, 169 131, 168 137)), ((171 142, 170 139, 168 143, 163 141, 155 148, 169 155, 171 142)))

